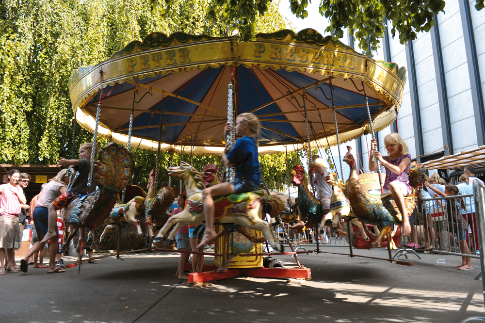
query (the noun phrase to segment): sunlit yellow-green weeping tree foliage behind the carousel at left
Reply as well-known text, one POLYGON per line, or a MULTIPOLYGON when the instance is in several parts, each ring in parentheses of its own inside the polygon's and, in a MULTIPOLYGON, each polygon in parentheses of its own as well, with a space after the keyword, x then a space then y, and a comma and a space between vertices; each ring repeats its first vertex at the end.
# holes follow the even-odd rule
MULTIPOLYGON (((229 34, 222 20, 208 21, 209 0, 3 0, 0 2, 0 163, 53 164, 78 156, 92 134, 74 121, 67 81, 79 66, 95 65, 150 32, 229 34), (73 130, 76 126, 76 136, 73 130), (74 142, 74 143, 73 143, 74 142), (73 149, 74 145, 74 149, 73 149)), ((254 32, 287 28, 277 6, 264 8, 254 32)), ((102 146, 107 139, 98 139, 102 146)), ((156 152, 134 152, 133 184, 146 187, 156 152)), ((178 164, 179 155, 174 157, 178 164)), ((183 156, 190 161, 189 156, 183 156)), ((194 156, 202 170, 220 157, 194 156)), ((170 153, 161 154, 159 181, 168 181, 170 153)), ((286 170, 286 164, 284 165, 286 170)), ((177 187, 174 181, 172 186, 177 187)))

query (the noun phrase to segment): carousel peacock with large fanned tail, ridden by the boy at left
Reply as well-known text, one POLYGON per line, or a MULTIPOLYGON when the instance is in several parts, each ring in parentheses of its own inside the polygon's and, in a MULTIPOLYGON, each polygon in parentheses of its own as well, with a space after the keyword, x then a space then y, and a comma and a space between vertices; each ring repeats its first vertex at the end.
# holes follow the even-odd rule
MULTIPOLYGON (((116 195, 123 190, 131 174, 131 154, 122 145, 109 143, 99 150, 94 164, 93 193, 77 196, 61 210, 61 218, 66 226, 74 227, 66 239, 65 245, 74 238, 79 228, 89 228, 96 232, 96 227, 104 223, 116 202, 116 195)), ((73 180, 71 180, 73 182, 73 180)), ((84 230, 81 230, 78 251, 84 244, 84 230)), ((96 246, 96 236, 92 248, 96 246)))

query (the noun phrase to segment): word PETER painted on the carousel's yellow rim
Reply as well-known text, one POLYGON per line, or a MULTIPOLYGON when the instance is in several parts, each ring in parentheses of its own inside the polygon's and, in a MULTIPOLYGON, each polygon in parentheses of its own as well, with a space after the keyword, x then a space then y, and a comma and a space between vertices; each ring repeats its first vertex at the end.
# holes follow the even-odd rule
POLYGON ((136 66, 140 70, 145 71, 151 68, 158 68, 162 65, 172 66, 176 65, 177 63, 187 64, 192 62, 189 55, 190 51, 187 48, 180 48, 178 49, 178 53, 175 51, 175 49, 172 49, 162 53, 133 57, 127 60, 127 72, 134 72, 136 66))

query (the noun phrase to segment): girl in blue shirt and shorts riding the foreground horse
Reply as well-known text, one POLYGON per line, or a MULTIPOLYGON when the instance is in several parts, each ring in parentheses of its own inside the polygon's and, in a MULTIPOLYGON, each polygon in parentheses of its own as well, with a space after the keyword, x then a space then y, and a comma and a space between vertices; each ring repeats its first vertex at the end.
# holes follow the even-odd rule
MULTIPOLYGON (((224 128, 226 138, 232 127, 229 123, 224 128)), ((226 149, 222 152, 222 160, 228 167, 236 166, 236 180, 233 182, 219 183, 202 191, 206 228, 204 237, 197 245, 204 245, 216 238, 214 230, 214 200, 213 196, 252 192, 259 189, 261 173, 259 172, 258 160, 258 135, 259 120, 252 113, 241 113, 236 118, 234 131, 239 138, 230 152, 226 149)))

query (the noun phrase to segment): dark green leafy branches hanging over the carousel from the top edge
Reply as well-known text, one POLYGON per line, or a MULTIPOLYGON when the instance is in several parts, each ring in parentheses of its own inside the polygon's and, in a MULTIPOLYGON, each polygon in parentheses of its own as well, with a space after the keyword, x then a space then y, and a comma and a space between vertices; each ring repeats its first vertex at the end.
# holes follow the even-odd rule
MULTIPOLYGON (((170 8, 172 0, 165 0, 164 5, 170 8)), ((207 18, 213 24, 223 21, 228 30, 238 32, 240 41, 248 42, 255 39, 257 19, 271 5, 272 0, 211 0, 207 18)), ((291 12, 302 19, 308 16, 307 5, 308 0, 290 0, 291 12)), ((359 47, 371 55, 388 20, 392 23, 392 36, 398 31, 401 44, 405 44, 416 39, 416 33, 428 32, 435 24, 435 14, 444 7, 443 0, 321 0, 319 12, 329 19, 330 26, 325 31, 334 39, 342 38, 343 29, 348 28, 359 41, 359 47)), ((482 10, 484 0, 477 0, 475 8, 482 10)))

